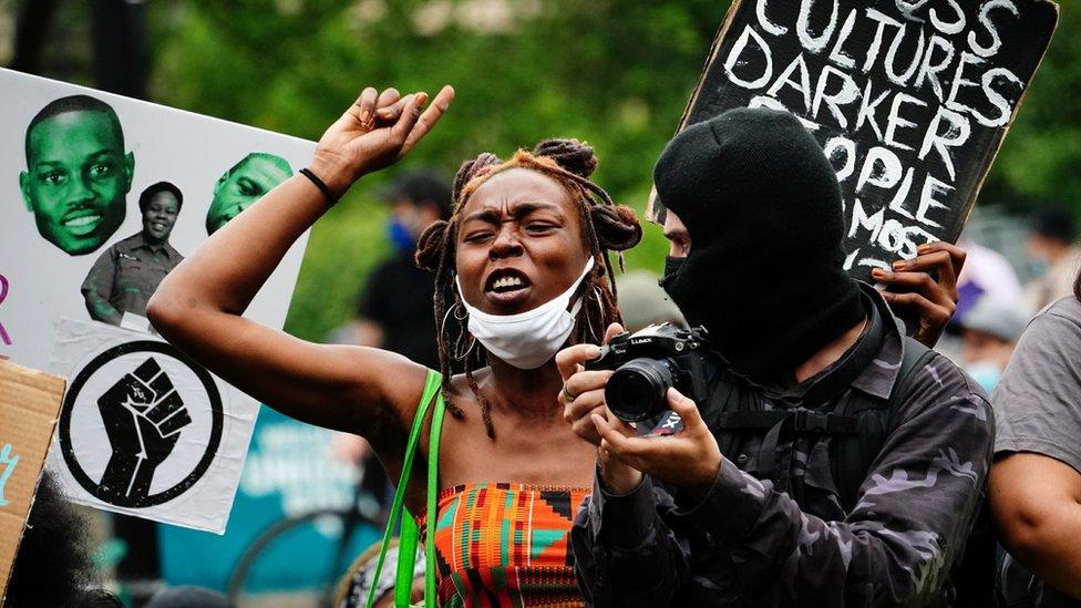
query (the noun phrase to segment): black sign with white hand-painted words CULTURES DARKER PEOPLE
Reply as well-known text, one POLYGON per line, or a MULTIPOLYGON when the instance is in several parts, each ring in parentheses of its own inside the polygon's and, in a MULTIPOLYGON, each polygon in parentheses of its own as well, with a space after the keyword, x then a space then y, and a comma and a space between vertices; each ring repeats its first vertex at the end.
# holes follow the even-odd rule
POLYGON ((957 239, 1057 23, 1047 0, 735 0, 680 128, 742 106, 800 116, 865 279, 957 239))

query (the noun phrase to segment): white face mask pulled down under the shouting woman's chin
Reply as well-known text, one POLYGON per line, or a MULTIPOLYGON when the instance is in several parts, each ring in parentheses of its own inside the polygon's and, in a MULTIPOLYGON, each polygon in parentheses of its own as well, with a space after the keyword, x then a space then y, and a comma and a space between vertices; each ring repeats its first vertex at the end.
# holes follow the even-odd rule
POLYGON ((578 280, 566 291, 533 310, 517 315, 488 315, 470 306, 462 295, 462 284, 455 277, 454 284, 457 286, 459 298, 470 313, 470 333, 488 352, 515 368, 521 370, 539 368, 547 363, 570 337, 575 316, 581 308, 581 298, 575 301, 569 311, 567 306, 583 279, 593 270, 593 264, 590 257, 578 280))

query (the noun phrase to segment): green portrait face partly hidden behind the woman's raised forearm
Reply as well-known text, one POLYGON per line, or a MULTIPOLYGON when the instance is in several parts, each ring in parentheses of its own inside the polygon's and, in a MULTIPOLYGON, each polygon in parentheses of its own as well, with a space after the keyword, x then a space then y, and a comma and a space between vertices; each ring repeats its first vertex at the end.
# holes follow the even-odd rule
POLYGON ((213 235, 291 175, 292 167, 280 156, 253 152, 241 158, 214 186, 214 200, 206 212, 206 234, 213 235))

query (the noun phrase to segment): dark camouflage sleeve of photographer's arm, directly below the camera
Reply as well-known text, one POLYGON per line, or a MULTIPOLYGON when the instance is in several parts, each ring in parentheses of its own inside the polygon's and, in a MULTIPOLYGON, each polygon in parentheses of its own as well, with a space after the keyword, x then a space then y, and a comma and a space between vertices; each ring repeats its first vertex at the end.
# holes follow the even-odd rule
POLYGON ((615 496, 594 477, 570 533, 575 575, 588 606, 669 606, 687 570, 686 538, 661 521, 671 496, 649 476, 615 496))

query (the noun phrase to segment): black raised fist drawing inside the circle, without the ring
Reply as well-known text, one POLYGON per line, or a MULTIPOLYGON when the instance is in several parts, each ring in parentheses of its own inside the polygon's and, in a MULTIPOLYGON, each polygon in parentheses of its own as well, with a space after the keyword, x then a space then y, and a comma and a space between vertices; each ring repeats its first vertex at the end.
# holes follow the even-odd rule
POLYGON ((192 423, 184 400, 154 358, 124 374, 97 399, 112 456, 99 491, 121 506, 140 506, 158 465, 192 423))

